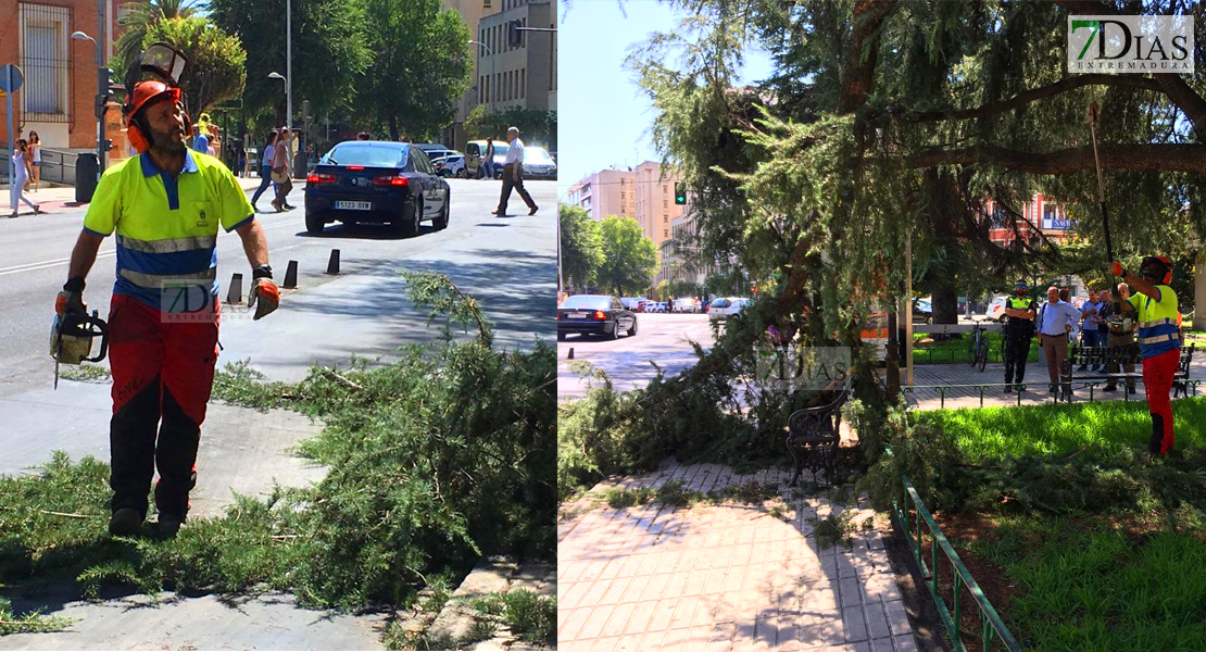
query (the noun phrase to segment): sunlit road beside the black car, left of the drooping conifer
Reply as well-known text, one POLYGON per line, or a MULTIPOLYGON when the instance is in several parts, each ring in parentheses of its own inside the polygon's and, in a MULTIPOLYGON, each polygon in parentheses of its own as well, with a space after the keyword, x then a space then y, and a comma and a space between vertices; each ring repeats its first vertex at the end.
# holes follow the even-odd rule
POLYGON ((586 394, 589 382, 572 369, 574 362, 591 363, 611 377, 617 390, 630 390, 657 375, 650 362, 673 376, 698 360, 690 341, 704 351, 713 343, 707 315, 639 313, 637 325, 636 335, 621 335, 619 340, 569 335, 557 342, 557 398, 579 399, 586 394), (573 360, 568 359, 570 350, 573 360))

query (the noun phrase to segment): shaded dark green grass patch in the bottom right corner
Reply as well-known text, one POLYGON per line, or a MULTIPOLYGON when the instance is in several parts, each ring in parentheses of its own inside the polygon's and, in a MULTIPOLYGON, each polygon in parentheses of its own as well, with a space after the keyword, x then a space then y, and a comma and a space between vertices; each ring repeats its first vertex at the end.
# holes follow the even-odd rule
POLYGON ((1206 650, 1201 536, 1034 516, 997 518, 993 534, 971 548, 1021 588, 1006 617, 1028 648, 1206 650))

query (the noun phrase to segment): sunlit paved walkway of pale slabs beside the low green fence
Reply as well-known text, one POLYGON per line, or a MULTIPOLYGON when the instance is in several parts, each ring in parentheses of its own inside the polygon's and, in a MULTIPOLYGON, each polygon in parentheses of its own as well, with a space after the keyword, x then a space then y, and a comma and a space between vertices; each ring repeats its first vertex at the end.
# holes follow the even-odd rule
MULTIPOLYGON (((819 550, 813 518, 845 506, 792 495, 790 469, 734 475, 714 464, 667 463, 620 484, 691 489, 778 484, 763 505, 597 507, 562 522, 557 640, 569 652, 917 650, 877 530, 851 550, 819 550), (771 513, 779 505, 781 513, 771 513)), ((807 478, 807 472, 806 472, 807 478)), ((602 483, 592 495, 615 484, 602 483)), ((874 512, 856 501, 854 523, 874 512)))

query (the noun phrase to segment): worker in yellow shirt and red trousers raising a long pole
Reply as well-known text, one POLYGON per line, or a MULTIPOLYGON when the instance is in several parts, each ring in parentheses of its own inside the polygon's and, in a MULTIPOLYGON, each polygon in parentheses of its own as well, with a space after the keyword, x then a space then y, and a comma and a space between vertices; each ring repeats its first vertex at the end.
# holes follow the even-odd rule
POLYGON ((1128 274, 1120 263, 1113 265, 1114 276, 1136 290, 1122 301, 1123 312, 1137 313, 1140 358, 1143 360, 1143 389, 1147 410, 1152 413, 1152 439, 1148 450, 1164 457, 1172 450, 1172 378, 1181 357, 1181 336, 1177 330, 1177 294, 1172 282, 1172 260, 1164 255, 1148 255, 1138 275, 1128 274))

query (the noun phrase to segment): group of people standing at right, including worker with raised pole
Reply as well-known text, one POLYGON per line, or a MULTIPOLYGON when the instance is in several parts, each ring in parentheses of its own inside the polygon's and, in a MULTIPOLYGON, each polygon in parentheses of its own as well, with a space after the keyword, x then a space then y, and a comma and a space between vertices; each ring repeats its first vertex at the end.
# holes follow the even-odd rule
MULTIPOLYGON (((1018 281, 1014 296, 1006 304, 1007 323, 1005 327, 1005 390, 1014 392, 1014 384, 1020 384, 1025 377, 1026 357, 1030 354, 1030 339, 1038 335, 1038 345, 1047 358, 1047 377, 1049 389, 1055 394, 1060 383, 1060 368, 1067 359, 1070 333, 1073 324, 1081 323, 1081 343, 1088 347, 1113 347, 1140 345, 1142 360, 1143 388, 1147 394, 1148 411, 1152 415, 1152 440, 1149 450, 1153 454, 1164 456, 1172 448, 1172 390, 1173 376, 1177 371, 1181 351, 1181 313, 1177 311, 1177 295, 1169 287, 1172 280, 1172 262, 1166 257, 1147 257, 1140 266, 1140 274, 1128 274, 1119 263, 1113 264, 1114 276, 1123 282, 1111 290, 1100 294, 1089 290, 1089 298, 1081 307, 1069 302, 1067 290, 1052 286, 1047 288, 1047 301, 1036 305, 1028 296, 1029 286, 1018 281), (1132 293, 1131 289, 1136 292, 1132 293)), ((1135 372, 1135 365, 1124 364, 1126 374, 1135 372)), ((1078 371, 1101 371, 1118 374, 1116 363, 1088 368, 1082 365, 1078 371)), ((1106 378, 1106 392, 1118 390, 1118 377, 1106 378)), ((1135 393, 1135 378, 1123 376, 1126 392, 1135 393)))

